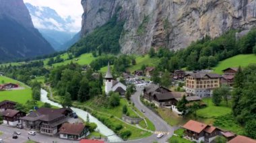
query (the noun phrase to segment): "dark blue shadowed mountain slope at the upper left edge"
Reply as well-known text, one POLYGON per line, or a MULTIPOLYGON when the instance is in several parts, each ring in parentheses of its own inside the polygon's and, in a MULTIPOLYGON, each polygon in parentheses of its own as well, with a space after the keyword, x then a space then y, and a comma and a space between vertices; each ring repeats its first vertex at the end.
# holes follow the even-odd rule
POLYGON ((0 0, 0 61, 54 52, 33 26, 22 0, 0 0))

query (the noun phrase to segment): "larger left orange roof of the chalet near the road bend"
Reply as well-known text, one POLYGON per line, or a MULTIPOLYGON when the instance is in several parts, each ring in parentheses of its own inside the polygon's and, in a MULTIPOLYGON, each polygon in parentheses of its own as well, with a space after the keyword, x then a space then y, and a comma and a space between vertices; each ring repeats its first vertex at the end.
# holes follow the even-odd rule
POLYGON ((191 130, 193 132, 197 132, 197 133, 202 132, 206 127, 207 127, 206 124, 203 124, 203 123, 200 123, 200 122, 196 122, 194 120, 189 120, 189 122, 187 122, 183 126, 183 128, 185 128, 187 130, 191 130))

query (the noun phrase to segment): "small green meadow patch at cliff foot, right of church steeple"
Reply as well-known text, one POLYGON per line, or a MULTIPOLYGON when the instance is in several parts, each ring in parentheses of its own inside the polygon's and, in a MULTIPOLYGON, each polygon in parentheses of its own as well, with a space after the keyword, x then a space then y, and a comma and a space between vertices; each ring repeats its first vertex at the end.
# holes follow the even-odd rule
POLYGON ((136 64, 128 68, 131 73, 133 73, 134 70, 139 70, 143 64, 148 66, 156 66, 160 62, 159 58, 150 58, 148 54, 145 56, 137 56, 135 60, 136 64))

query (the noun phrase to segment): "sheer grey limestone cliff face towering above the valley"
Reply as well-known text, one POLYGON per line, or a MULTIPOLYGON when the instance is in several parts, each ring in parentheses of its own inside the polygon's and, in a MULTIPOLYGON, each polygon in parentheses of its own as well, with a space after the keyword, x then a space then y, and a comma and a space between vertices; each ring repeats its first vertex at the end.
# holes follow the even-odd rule
POLYGON ((120 9, 124 54, 144 54, 152 46, 177 50, 205 35, 214 38, 232 28, 256 25, 256 0, 82 0, 82 5, 82 36, 120 9))

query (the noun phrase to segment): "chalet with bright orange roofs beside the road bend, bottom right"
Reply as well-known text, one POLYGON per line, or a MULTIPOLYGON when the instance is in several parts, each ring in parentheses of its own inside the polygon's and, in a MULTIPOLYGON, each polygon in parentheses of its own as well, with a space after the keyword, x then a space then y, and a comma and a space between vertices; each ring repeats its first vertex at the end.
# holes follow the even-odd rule
POLYGON ((184 138, 195 142, 212 142, 220 135, 220 129, 194 120, 189 120, 183 128, 185 129, 184 138))

